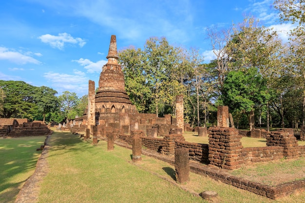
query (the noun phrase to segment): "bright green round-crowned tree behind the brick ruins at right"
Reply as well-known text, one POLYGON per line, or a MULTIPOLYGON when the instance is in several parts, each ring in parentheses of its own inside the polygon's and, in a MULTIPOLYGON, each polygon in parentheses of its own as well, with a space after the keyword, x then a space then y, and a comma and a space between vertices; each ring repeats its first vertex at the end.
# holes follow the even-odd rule
POLYGON ((257 68, 231 71, 224 82, 223 102, 230 111, 245 113, 250 130, 254 128, 254 108, 267 101, 266 80, 257 68))

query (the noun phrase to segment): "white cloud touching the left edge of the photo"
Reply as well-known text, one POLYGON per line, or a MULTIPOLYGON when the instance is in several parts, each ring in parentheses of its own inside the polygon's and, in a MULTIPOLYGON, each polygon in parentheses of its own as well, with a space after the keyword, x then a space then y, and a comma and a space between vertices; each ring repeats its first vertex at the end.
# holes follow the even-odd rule
MULTIPOLYGON (((26 54, 31 54, 31 52, 28 52, 26 54)), ((15 50, 10 50, 5 47, 0 47, 0 60, 9 60, 17 64, 26 64, 26 63, 41 64, 40 61, 29 55, 25 55, 20 53, 20 51, 17 52, 15 50)))

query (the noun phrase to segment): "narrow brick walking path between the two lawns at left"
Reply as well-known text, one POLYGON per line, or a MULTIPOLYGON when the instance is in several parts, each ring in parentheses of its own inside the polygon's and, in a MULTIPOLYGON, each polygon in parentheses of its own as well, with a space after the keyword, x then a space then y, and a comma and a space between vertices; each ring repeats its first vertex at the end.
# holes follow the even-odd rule
POLYGON ((47 162, 49 145, 48 141, 51 135, 46 138, 46 145, 44 146, 41 155, 37 161, 34 174, 26 180, 21 190, 18 193, 15 203, 36 203, 38 201, 39 184, 45 177, 49 170, 47 162))

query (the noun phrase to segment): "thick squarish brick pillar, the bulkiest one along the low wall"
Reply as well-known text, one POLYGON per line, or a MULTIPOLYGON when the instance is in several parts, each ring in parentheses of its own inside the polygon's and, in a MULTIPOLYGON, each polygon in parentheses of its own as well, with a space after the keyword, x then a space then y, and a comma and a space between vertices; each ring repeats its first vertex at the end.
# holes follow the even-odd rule
POLYGON ((235 128, 209 128, 209 162, 211 165, 233 170, 240 168, 244 160, 239 158, 243 148, 241 135, 235 128))

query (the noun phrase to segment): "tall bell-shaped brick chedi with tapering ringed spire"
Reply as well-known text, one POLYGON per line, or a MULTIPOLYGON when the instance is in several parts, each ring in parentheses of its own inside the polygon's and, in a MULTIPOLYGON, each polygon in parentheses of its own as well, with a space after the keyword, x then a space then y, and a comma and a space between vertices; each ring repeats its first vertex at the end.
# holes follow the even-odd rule
POLYGON ((95 107, 99 112, 130 112, 135 113, 130 98, 125 91, 124 74, 118 64, 116 37, 111 36, 109 52, 106 57, 108 62, 103 66, 99 76, 98 91, 95 94, 95 107), (107 110, 106 110, 107 109, 107 110))

